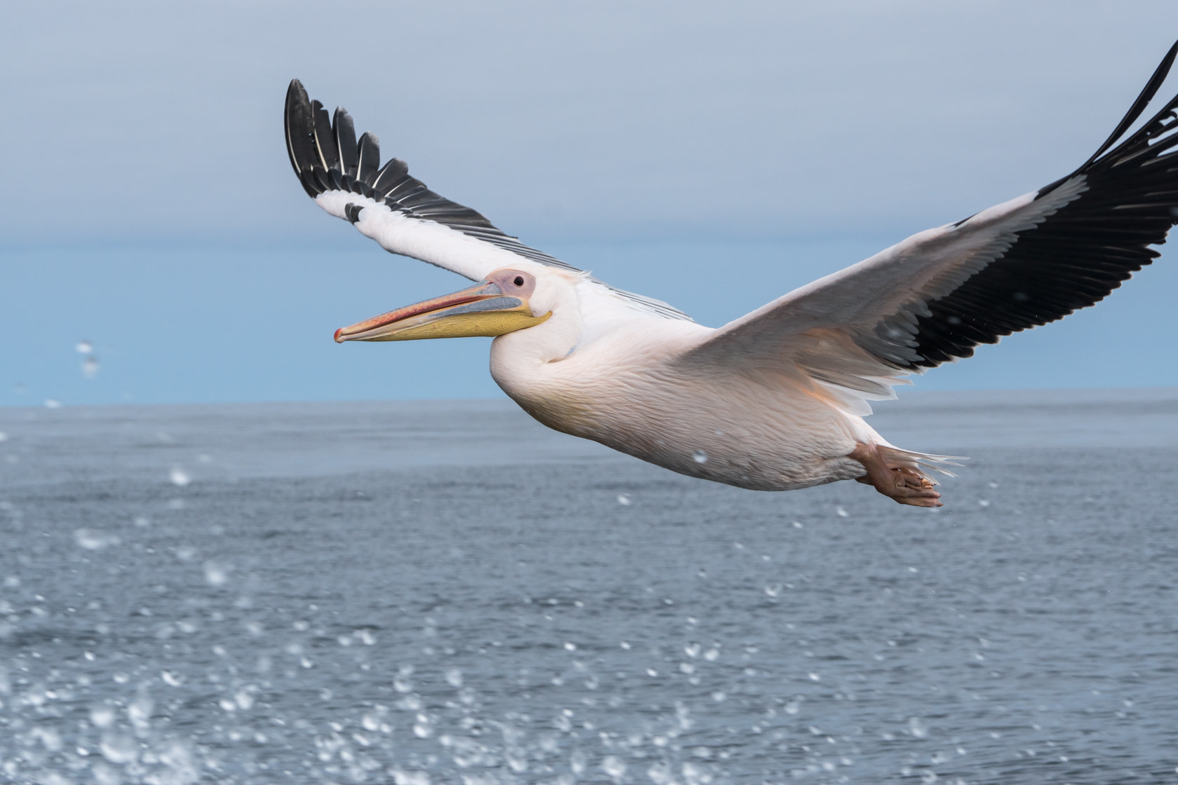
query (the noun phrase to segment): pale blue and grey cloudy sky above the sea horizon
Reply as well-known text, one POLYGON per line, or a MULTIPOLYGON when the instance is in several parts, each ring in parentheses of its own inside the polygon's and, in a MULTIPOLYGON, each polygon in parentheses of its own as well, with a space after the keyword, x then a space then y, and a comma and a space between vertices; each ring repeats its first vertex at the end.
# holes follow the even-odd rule
MULTIPOLYGON (((485 341, 330 342, 461 280, 306 199, 292 76, 436 191, 719 325, 1071 171, 1174 38, 1172 0, 9 4, 0 405, 495 394, 485 341)), ((1178 384, 1173 267, 919 385, 1178 384)))

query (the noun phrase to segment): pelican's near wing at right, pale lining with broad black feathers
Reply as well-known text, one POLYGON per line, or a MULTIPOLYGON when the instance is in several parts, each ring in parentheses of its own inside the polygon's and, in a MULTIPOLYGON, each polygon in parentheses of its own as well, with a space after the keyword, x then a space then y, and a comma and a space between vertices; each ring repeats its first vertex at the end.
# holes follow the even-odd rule
POLYGON ((1150 246, 1178 222, 1178 98, 1113 147, 1176 53, 1178 44, 1072 174, 795 290, 680 360, 800 370, 861 399, 891 398, 907 373, 1104 299, 1159 255, 1150 246))

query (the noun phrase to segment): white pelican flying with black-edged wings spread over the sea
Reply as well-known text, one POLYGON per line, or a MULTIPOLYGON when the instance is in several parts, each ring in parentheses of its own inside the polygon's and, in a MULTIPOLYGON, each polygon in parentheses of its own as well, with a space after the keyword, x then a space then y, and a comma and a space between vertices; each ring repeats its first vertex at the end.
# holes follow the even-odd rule
MULTIPOLYGON (((477 281, 365 319, 337 341, 495 337, 495 381, 544 425, 674 472, 760 491, 859 480, 940 506, 944 455, 863 418, 905 377, 1104 299, 1178 222, 1178 98, 1126 137, 1178 52, 1078 169, 920 232, 723 327, 615 288, 434 193, 298 80, 286 148, 315 201, 396 254, 477 281)), ((701 280, 702 285, 709 285, 701 280)), ((712 282, 710 285, 717 285, 712 282)))

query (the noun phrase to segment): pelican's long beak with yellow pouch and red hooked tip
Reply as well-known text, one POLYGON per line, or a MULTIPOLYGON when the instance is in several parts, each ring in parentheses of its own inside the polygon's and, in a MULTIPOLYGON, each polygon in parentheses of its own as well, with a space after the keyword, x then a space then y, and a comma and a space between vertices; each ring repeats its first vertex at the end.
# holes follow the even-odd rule
POLYGON ((531 327, 552 315, 531 315, 525 300, 503 294, 483 281, 470 288, 382 313, 336 331, 345 340, 417 340, 422 338, 494 337, 531 327))

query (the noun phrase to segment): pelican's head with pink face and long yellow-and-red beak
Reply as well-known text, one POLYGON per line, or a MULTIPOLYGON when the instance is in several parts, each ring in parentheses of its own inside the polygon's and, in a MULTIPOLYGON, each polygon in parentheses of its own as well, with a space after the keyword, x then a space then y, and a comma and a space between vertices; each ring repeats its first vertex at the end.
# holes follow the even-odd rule
POLYGON ((470 288, 342 327, 336 342, 496 337, 535 327, 552 315, 548 272, 502 267, 470 288))

